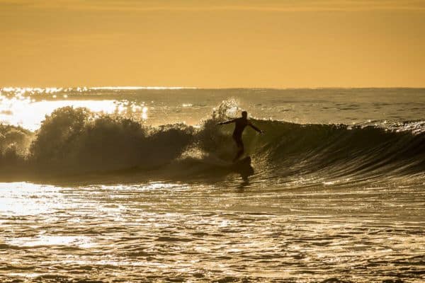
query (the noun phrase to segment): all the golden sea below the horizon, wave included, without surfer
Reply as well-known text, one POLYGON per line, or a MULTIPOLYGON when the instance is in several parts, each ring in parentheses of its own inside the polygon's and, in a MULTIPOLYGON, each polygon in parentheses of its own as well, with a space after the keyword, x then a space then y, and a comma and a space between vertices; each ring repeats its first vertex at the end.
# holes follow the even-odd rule
POLYGON ((1 88, 0 282, 424 282, 425 89, 1 88), (247 110, 251 167, 230 166, 247 110))

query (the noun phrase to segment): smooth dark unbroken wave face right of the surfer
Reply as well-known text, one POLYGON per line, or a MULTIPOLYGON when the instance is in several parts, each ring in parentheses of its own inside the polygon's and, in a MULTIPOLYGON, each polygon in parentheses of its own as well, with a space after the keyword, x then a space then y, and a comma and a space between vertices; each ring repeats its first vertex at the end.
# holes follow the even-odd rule
POLYGON ((258 124, 271 134, 256 154, 280 170, 340 177, 405 175, 425 169, 424 133, 376 126, 258 124))

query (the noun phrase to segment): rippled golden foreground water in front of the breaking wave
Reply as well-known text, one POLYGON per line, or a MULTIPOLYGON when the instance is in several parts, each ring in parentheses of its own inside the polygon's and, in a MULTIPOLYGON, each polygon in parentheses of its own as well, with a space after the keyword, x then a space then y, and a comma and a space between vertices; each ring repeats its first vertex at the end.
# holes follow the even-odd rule
POLYGON ((423 187, 0 185, 2 282, 421 282, 423 187), (260 187, 260 188, 259 188, 260 187), (62 281, 60 281, 62 280, 62 281), (387 281, 390 282, 390 281, 387 281))

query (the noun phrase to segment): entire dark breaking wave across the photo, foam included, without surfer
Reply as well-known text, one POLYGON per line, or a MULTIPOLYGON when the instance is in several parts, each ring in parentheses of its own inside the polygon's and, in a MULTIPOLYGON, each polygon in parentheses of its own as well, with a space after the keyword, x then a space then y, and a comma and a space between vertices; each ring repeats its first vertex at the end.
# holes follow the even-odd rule
MULTIPOLYGON (((233 126, 217 126, 227 118, 229 108, 234 105, 222 103, 200 127, 150 127, 86 108, 60 108, 35 133, 1 125, 1 170, 4 178, 128 172, 128 168, 148 175, 216 174, 220 166, 215 160, 230 161, 236 151, 233 126)), ((266 131, 259 135, 246 129, 244 133, 246 153, 259 178, 313 174, 370 179, 425 171, 424 122, 349 127, 252 121, 266 131)))

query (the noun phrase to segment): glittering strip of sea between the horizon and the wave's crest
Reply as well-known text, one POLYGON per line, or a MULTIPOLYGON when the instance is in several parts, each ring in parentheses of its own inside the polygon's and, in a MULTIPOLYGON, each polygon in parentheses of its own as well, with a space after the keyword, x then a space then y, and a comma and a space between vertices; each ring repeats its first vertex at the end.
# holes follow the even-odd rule
POLYGON ((45 115, 72 105, 130 112, 149 125, 197 125, 229 98, 254 117, 297 123, 399 122, 423 119, 425 112, 425 88, 0 88, 0 122, 35 130, 45 115))

